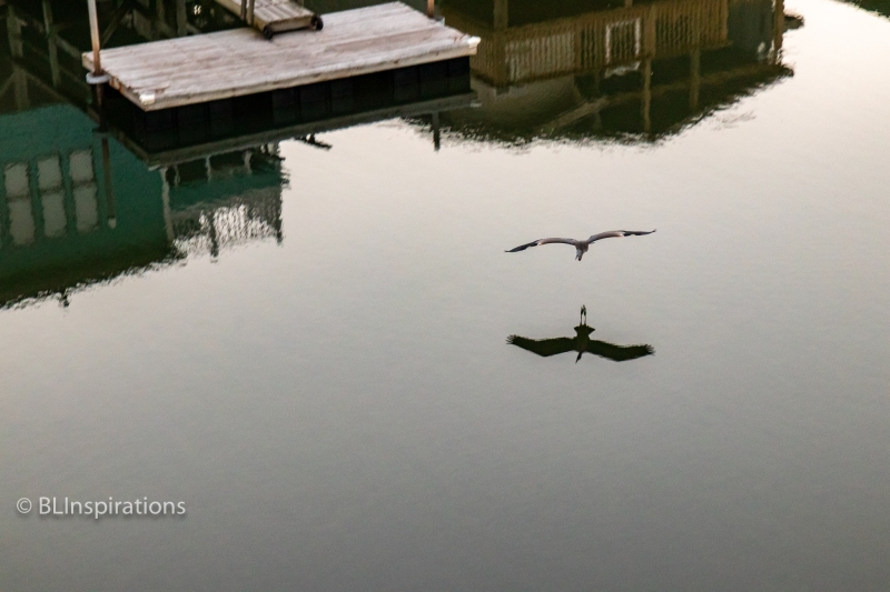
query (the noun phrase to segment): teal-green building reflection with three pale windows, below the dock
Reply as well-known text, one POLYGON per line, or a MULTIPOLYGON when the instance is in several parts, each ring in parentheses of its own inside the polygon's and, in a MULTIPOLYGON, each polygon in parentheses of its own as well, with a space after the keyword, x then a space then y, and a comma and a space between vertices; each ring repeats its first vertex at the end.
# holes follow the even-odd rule
POLYGON ((149 168, 70 104, 0 114, 0 308, 281 239, 276 144, 149 168))

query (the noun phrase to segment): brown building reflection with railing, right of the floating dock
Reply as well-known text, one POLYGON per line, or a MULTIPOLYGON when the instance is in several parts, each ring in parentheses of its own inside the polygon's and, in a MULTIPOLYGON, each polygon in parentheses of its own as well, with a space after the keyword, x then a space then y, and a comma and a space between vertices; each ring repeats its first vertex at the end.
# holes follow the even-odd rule
POLYGON ((782 0, 443 0, 482 38, 457 137, 654 140, 792 72, 782 0))

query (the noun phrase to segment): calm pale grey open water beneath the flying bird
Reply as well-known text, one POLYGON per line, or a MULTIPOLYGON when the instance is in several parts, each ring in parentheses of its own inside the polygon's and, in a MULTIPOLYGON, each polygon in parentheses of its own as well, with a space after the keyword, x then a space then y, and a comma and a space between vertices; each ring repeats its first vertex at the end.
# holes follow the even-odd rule
MULTIPOLYGON (((785 11, 789 72, 660 136, 483 133, 475 80, 438 151, 398 118, 274 147, 266 189, 230 191, 280 209, 247 239, 177 227, 63 289, 19 263, 0 590, 890 589, 890 21, 785 11), (655 228, 581 262, 504 253, 655 228), (582 305, 593 339, 654 354, 506 342, 571 338, 582 305)), ((65 104, 0 124, 47 109, 90 127, 65 104)))

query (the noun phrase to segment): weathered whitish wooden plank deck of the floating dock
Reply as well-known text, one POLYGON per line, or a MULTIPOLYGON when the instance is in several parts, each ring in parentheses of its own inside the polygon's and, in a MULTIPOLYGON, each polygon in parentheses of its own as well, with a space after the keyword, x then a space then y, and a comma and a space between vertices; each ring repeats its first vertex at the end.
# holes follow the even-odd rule
MULTIPOLYGON (((472 56, 479 39, 400 3, 325 14, 271 41, 250 28, 101 51, 109 84, 146 111, 472 56)), ((92 53, 83 53, 92 69, 92 53)))

